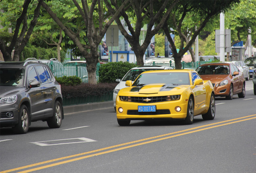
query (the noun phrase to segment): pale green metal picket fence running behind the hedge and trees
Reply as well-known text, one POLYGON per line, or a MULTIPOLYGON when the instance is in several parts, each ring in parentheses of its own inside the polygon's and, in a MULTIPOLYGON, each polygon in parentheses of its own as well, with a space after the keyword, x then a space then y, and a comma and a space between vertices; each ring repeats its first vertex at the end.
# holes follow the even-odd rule
MULTIPOLYGON (((211 61, 197 61, 197 62, 182 62, 182 69, 192 69, 196 70, 200 64, 205 64, 211 61)), ((52 70, 55 77, 62 77, 62 76, 77 76, 82 79, 83 83, 88 83, 88 72, 86 69, 86 63, 78 63, 78 62, 47 62, 46 63, 50 69, 52 70)), ((97 64, 96 69, 96 78, 97 81, 99 79, 99 68, 101 64, 97 64)), ((159 63, 159 62, 152 62, 152 63, 145 63, 144 66, 171 66, 175 69, 175 64, 171 62, 166 63, 159 63)))

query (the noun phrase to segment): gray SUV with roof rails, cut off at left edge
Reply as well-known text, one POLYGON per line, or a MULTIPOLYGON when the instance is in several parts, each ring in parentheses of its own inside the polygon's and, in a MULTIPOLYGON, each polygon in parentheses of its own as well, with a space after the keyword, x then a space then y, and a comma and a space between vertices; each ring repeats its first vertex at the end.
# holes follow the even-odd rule
POLYGON ((64 118, 60 84, 39 62, 0 62, 0 127, 27 133, 33 121, 59 128, 64 118))

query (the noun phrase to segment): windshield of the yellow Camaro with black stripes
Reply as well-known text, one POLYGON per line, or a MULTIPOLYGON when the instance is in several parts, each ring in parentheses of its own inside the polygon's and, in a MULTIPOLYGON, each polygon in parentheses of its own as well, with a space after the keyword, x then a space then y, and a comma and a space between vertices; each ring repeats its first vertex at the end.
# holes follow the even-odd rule
POLYGON ((142 86, 144 84, 154 83, 166 83, 180 85, 189 85, 189 73, 188 72, 154 72, 140 74, 140 76, 134 81, 132 86, 142 86))

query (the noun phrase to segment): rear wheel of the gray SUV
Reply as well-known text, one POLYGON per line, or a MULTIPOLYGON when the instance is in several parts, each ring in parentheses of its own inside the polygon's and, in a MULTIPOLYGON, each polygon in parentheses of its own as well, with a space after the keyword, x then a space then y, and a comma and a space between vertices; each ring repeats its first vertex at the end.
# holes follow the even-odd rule
POLYGON ((59 128, 63 119, 62 105, 56 101, 54 106, 54 115, 47 120, 47 125, 50 128, 59 128))

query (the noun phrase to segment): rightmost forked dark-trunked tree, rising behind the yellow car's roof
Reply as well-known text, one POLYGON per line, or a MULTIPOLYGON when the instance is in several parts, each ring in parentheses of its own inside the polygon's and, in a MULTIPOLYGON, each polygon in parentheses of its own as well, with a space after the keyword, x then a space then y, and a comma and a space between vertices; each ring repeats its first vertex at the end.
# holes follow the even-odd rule
POLYGON ((180 1, 179 4, 175 6, 168 22, 163 26, 163 30, 171 44, 176 68, 180 69, 182 67, 182 56, 188 50, 191 52, 191 46, 194 44, 196 36, 198 36, 206 24, 236 2, 239 2, 239 0, 180 1), (190 22, 192 27, 189 28, 195 28, 195 26, 197 26, 194 32, 193 30, 190 31, 190 40, 188 40, 188 32, 184 32, 186 30, 183 28, 184 25, 186 26, 186 24, 188 24, 186 23, 188 18, 192 20, 192 22, 190 22), (174 31, 170 30, 170 28, 173 28, 174 31), (179 52, 176 51, 175 42, 170 36, 170 33, 173 32, 176 32, 181 40, 179 52), (186 46, 184 43, 186 43, 186 46))

